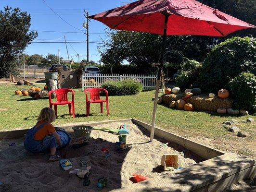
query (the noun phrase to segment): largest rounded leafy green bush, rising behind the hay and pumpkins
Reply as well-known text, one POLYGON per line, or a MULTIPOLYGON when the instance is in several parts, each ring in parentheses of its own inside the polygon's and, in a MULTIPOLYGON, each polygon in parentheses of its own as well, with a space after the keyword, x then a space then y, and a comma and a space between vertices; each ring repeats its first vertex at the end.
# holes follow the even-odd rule
POLYGON ((241 72, 256 74, 256 38, 232 37, 212 48, 204 61, 197 86, 218 92, 241 72))

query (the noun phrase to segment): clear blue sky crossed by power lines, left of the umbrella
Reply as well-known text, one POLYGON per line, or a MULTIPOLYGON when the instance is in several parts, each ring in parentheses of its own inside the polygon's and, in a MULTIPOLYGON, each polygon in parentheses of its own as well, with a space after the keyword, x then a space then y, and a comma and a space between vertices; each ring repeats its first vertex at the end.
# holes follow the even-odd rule
MULTIPOLYGON (((85 21, 84 10, 89 12, 89 15, 93 15, 99 12, 103 12, 109 9, 113 9, 118 6, 129 3, 135 0, 45 0, 45 2, 57 12, 65 21, 74 27, 84 30, 82 23, 85 21)), ((66 24, 61 20, 42 0, 0 0, 0 9, 4 6, 19 7, 22 11, 26 11, 31 15, 31 27, 30 30, 38 30, 38 39, 36 41, 64 41, 64 36, 67 41, 78 40, 85 41, 86 35, 83 31, 80 31, 72 26, 66 24), (40 32, 40 31, 64 31, 64 32, 78 32, 78 33, 52 33, 52 32, 40 32), (81 32, 81 34, 79 33, 81 32)), ((101 38, 105 39, 105 29, 107 26, 94 20, 90 20, 89 24, 89 41, 101 42, 101 38), (101 33, 101 34, 93 34, 101 33)), ((68 52, 70 59, 77 61, 77 53, 80 55, 80 60, 86 59, 87 49, 86 43, 72 43, 69 44, 68 52), (72 57, 71 57, 72 56, 72 57)), ((89 60, 98 61, 100 55, 97 49, 99 44, 89 44, 90 53, 89 60)), ((60 48, 60 56, 67 59, 67 52, 64 43, 32 43, 28 45, 25 50, 26 54, 40 54, 46 56, 48 53, 58 55, 58 48, 60 48)))

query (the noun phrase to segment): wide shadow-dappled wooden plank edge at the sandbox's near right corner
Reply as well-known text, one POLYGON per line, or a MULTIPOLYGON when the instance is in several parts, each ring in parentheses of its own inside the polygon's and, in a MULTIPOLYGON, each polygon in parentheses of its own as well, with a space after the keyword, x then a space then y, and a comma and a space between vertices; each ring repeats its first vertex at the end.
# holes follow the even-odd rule
POLYGON ((232 181, 235 183, 248 177, 254 177, 255 169, 256 161, 254 159, 228 153, 175 172, 113 190, 113 192, 154 192, 154 190, 161 192, 218 192, 215 189, 221 188, 225 179, 229 179, 231 176, 231 180, 232 177, 235 177, 236 180, 232 181), (219 164, 222 166, 220 169, 219 164), (211 186, 213 190, 208 191, 208 187, 211 186))

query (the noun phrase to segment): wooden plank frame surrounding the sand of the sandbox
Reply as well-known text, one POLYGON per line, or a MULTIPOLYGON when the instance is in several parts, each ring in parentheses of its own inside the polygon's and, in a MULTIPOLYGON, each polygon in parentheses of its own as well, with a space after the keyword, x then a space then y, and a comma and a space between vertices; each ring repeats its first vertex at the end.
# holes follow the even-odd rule
MULTIPOLYGON (((79 122, 56 126, 67 132, 75 125, 97 126, 112 122, 128 122, 150 132, 151 125, 136 119, 79 122)), ((21 138, 28 129, 0 132, 0 139, 21 138)), ((136 184, 113 190, 113 192, 218 192, 231 184, 256 176, 256 161, 234 153, 208 147, 179 135, 155 127, 154 135, 171 143, 179 144, 206 160, 186 168, 169 172, 136 184)))

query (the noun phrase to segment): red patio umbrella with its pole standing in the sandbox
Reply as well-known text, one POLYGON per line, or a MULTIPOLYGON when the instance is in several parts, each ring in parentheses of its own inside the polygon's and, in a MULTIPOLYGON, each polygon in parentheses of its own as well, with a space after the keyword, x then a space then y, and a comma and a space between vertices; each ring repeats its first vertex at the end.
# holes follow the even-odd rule
MULTIPOLYGON (((166 35, 227 36, 256 27, 195 0, 139 0, 90 18, 112 29, 163 35, 154 98, 158 98, 166 35)), ((157 99, 154 100, 150 141, 154 138, 156 107, 157 99)))

